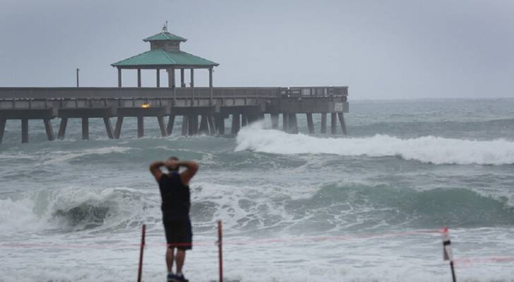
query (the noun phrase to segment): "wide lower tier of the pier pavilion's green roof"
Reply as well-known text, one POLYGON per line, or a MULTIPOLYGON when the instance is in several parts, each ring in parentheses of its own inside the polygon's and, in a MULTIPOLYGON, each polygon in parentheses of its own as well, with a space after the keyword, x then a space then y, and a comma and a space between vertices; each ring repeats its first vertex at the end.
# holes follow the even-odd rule
POLYGON ((203 59, 184 51, 164 51, 154 49, 113 63, 111 66, 218 66, 218 63, 203 59))

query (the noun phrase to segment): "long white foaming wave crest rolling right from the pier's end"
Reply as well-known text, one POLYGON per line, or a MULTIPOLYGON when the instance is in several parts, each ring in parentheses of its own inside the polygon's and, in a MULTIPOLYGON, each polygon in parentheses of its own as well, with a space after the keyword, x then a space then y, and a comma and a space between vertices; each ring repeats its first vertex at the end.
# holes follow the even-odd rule
POLYGON ((508 140, 460 140, 434 136, 402 139, 388 135, 321 138, 265 129, 262 123, 254 123, 239 131, 236 151, 242 150, 272 154, 398 156, 431 164, 514 164, 514 142, 508 140))

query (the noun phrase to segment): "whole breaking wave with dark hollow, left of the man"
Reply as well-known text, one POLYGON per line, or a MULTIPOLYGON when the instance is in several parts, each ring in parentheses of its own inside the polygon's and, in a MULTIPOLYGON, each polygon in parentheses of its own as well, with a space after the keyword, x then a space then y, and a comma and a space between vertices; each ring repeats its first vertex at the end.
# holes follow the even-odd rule
POLYGON ((0 199, 0 228, 20 231, 80 231, 137 226, 143 210, 158 207, 128 188, 62 188, 20 192, 0 199), (142 198, 145 199, 142 199, 142 198))

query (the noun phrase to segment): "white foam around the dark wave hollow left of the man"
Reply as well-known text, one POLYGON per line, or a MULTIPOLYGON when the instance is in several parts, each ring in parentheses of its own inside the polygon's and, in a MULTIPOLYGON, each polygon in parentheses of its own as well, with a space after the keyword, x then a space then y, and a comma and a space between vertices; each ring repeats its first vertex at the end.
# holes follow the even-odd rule
POLYGON ((128 188, 68 187, 20 192, 16 197, 0 199, 0 229, 5 235, 63 227, 66 219, 59 219, 56 212, 68 212, 81 205, 108 209, 102 223, 108 228, 123 221, 136 220, 141 211, 150 205, 157 207, 157 203, 148 201, 154 196, 147 197, 141 191, 128 188), (142 201, 141 197, 147 199, 142 201))

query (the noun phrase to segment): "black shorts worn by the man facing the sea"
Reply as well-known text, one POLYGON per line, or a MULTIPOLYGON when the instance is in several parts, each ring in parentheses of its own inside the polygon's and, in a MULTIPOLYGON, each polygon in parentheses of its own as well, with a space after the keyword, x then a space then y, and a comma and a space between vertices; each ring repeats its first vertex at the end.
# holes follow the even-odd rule
POLYGON ((189 216, 163 216, 162 223, 165 226, 168 247, 177 247, 179 250, 191 250, 193 248, 193 231, 191 230, 189 216))

